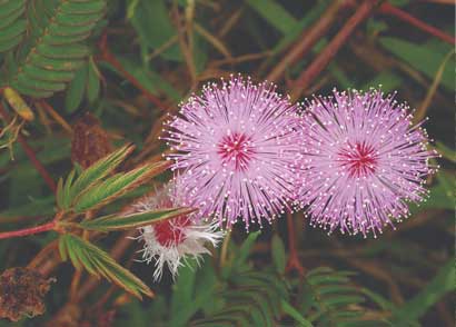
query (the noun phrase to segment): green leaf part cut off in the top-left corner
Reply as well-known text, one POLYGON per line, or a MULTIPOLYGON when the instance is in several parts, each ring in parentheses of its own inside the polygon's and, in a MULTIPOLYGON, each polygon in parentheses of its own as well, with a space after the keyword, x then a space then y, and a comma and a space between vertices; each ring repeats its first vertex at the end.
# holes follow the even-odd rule
POLYGON ((23 39, 27 20, 26 0, 0 1, 0 52, 13 49, 23 39))

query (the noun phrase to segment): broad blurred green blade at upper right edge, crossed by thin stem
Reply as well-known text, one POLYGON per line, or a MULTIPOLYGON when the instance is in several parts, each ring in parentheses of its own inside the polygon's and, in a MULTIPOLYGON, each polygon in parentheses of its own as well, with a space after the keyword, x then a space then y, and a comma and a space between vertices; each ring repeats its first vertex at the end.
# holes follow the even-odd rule
MULTIPOLYGON (((435 51, 433 48, 397 38, 384 37, 379 38, 379 42, 385 49, 406 61, 414 69, 423 72, 432 80, 446 57, 446 53, 435 51)), ((442 85, 449 91, 453 91, 455 88, 453 70, 455 67, 454 62, 455 58, 453 57, 453 65, 447 65, 442 76, 442 85)))

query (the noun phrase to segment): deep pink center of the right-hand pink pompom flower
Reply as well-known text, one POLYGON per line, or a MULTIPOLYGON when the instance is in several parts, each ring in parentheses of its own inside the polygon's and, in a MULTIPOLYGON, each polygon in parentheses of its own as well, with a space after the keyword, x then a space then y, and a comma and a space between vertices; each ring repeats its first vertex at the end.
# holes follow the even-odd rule
POLYGON ((350 177, 365 177, 374 174, 378 162, 374 147, 366 142, 357 142, 355 146, 348 143, 348 147, 341 149, 338 156, 337 161, 348 169, 350 177))

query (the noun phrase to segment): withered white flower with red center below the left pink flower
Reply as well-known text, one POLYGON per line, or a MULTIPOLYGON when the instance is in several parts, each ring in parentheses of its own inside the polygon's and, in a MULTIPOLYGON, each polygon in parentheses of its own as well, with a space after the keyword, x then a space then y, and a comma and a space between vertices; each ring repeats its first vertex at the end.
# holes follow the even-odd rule
MULTIPOLYGON (((169 189, 146 196, 135 204, 132 212, 180 207, 181 197, 182 194, 171 182, 169 189)), ((175 277, 188 257, 198 261, 202 254, 210 254, 207 242, 217 246, 222 238, 224 234, 217 231, 217 224, 195 222, 191 218, 191 215, 179 216, 139 229, 138 239, 145 242, 142 259, 148 264, 156 262, 155 280, 161 278, 165 264, 175 277)))

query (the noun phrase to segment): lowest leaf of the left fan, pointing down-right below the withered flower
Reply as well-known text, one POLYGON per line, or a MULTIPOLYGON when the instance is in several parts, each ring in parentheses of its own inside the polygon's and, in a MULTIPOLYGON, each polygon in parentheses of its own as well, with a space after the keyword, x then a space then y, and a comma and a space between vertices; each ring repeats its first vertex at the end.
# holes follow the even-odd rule
POLYGON ((66 234, 59 239, 62 260, 70 258, 77 269, 82 267, 89 274, 105 277, 133 296, 152 297, 153 294, 138 277, 117 264, 107 252, 82 238, 66 234))

